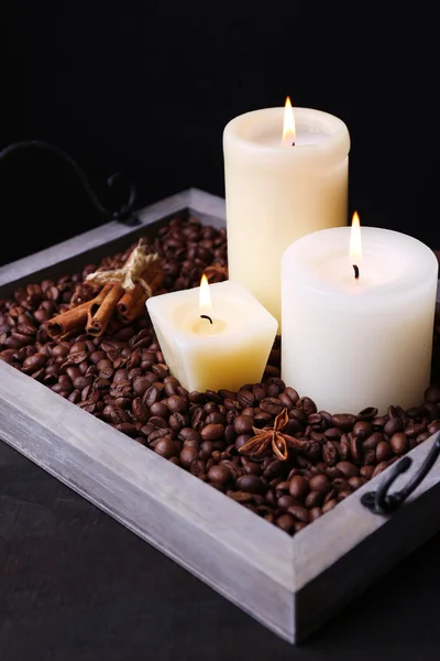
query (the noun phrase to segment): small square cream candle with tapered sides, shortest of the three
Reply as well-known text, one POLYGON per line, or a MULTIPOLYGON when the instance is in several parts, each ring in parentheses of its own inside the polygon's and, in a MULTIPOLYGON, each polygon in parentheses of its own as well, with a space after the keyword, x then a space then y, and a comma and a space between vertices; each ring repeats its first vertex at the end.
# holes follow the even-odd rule
POLYGON ((187 390, 237 391, 260 382, 276 319, 240 283, 224 281, 146 302, 170 373, 187 390))

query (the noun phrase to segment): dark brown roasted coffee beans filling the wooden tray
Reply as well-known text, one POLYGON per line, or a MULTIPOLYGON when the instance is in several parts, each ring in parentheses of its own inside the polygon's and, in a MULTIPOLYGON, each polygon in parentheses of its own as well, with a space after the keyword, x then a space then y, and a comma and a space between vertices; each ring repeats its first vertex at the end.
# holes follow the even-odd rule
MULTIPOLYGON (((216 281, 226 277, 223 229, 176 217, 145 241, 164 259, 164 291, 197 286, 212 264, 216 281)), ((0 358, 289 534, 440 430, 435 384, 424 402, 408 410, 389 405, 385 415, 373 408, 358 414, 318 411, 280 379, 279 337, 262 383, 243 384, 238 392, 183 388, 169 373, 146 315, 100 339, 81 334, 50 340, 44 322, 67 310, 73 296, 80 299, 88 273, 121 266, 131 248, 0 301, 0 358), (286 462, 272 451, 260 459, 239 454, 253 427, 271 427, 284 409, 289 420, 283 431, 306 441, 304 449, 290 451, 286 462)), ((438 347, 436 339, 436 360, 438 347)), ((437 361, 432 373, 438 375, 437 361)))

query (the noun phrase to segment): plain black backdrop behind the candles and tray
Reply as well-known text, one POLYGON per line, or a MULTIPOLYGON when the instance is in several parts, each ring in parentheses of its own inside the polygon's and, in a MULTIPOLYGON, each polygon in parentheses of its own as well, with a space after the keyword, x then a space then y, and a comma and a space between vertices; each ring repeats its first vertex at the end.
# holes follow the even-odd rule
MULTIPOLYGON (((296 50, 292 19, 278 15, 161 19, 150 3, 135 11, 89 3, 87 13, 10 4, 0 147, 52 142, 100 196, 121 170, 136 183, 140 206, 188 186, 222 195, 226 123, 289 95, 346 122, 350 210, 363 224, 440 245, 438 55, 392 45, 296 50)), ((2 263, 102 221, 67 169, 41 153, 1 163, 0 184, 11 238, 2 263)))

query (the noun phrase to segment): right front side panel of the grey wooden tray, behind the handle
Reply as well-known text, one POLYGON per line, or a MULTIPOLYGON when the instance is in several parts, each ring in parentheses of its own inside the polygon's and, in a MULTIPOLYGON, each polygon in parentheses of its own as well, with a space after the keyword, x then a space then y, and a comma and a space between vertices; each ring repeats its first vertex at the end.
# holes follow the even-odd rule
MULTIPOLYGON (((420 468, 437 435, 408 453, 413 464, 391 492, 420 468)), ((389 518, 361 503, 384 476, 386 472, 294 538, 297 642, 440 529, 440 462, 389 518)))

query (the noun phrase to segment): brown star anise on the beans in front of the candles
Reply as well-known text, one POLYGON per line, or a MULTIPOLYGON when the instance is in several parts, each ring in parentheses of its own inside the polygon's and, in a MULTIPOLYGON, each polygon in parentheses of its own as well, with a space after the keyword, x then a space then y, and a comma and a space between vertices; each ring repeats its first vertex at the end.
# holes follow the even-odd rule
POLYGON ((239 452, 251 457, 261 457, 272 448, 276 458, 280 462, 285 462, 288 458, 289 447, 299 451, 307 445, 306 441, 282 433, 282 430, 286 426, 288 420, 288 411, 287 409, 283 409, 275 418, 274 426, 272 429, 264 427, 258 430, 257 427, 252 427, 255 436, 252 436, 252 438, 246 441, 246 443, 240 447, 239 452))

